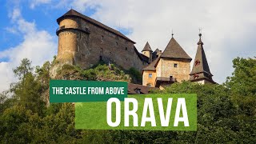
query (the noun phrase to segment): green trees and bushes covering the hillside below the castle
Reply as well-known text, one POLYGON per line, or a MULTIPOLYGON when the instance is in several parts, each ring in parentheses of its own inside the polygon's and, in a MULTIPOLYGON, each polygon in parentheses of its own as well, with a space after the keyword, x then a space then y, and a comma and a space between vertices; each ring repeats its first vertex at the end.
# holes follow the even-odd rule
MULTIPOLYGON (((74 105, 47 103, 50 68, 23 59, 13 71, 18 82, 0 94, 1 143, 256 143, 256 58, 234 58, 234 72, 223 84, 174 83, 160 94, 197 94, 197 131, 75 130, 74 105)), ((126 81, 136 70, 98 64, 89 70, 64 65, 57 79, 126 81)), ((220 69, 221 70, 221 69, 220 69)))

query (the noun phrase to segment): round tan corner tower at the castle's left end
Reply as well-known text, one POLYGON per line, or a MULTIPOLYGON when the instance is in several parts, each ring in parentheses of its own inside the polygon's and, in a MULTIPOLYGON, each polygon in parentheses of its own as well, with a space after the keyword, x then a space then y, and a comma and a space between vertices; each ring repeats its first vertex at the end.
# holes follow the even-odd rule
POLYGON ((69 10, 62 17, 57 19, 58 29, 58 55, 56 60, 62 63, 78 64, 80 55, 80 40, 88 38, 89 30, 80 24, 78 13, 69 10))

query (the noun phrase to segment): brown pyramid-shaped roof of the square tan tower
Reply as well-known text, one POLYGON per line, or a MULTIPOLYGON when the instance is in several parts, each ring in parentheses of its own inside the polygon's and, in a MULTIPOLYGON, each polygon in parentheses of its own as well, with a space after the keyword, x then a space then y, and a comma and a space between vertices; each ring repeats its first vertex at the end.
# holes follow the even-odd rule
POLYGON ((162 52, 161 58, 182 58, 189 59, 190 61, 192 60, 192 58, 186 54, 186 51, 182 49, 182 46, 180 46, 174 38, 170 39, 166 49, 162 52))

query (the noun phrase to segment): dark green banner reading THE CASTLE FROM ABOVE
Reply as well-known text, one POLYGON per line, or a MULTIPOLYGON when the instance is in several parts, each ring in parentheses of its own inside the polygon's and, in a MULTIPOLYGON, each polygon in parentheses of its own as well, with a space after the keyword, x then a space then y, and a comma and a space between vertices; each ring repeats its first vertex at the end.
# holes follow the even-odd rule
POLYGON ((126 97, 127 82, 50 80, 50 102, 123 101, 126 97))

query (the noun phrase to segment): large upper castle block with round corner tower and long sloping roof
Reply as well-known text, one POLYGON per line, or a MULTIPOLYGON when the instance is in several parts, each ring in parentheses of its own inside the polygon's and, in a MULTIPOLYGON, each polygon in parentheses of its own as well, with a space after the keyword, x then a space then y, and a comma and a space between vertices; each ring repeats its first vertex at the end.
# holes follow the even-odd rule
POLYGON ((99 61, 111 62, 125 70, 142 70, 148 65, 135 42, 118 30, 104 25, 76 10, 69 10, 57 19, 59 64, 71 64, 88 69, 99 61))

